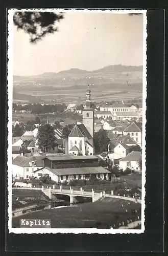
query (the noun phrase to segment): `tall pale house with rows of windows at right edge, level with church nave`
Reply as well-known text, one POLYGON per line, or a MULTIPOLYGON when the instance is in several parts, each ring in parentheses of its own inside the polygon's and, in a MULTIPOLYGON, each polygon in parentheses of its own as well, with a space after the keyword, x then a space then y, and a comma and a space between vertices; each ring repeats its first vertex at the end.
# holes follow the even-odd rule
POLYGON ((142 124, 132 122, 123 132, 130 136, 140 147, 142 147, 142 124))

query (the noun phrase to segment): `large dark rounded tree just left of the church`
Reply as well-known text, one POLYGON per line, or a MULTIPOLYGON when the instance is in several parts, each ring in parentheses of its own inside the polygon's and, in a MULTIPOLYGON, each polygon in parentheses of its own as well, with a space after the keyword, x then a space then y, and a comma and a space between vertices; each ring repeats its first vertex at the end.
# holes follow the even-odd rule
POLYGON ((54 127, 49 123, 41 124, 39 126, 37 139, 39 148, 43 152, 47 152, 57 145, 54 127))

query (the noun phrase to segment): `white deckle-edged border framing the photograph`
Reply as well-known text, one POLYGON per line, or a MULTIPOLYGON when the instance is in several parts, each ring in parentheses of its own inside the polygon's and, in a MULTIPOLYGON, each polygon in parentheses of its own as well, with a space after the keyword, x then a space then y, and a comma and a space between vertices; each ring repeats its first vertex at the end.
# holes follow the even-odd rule
POLYGON ((147 10, 76 10, 76 9, 9 9, 8 10, 8 229, 9 233, 85 233, 85 234, 140 234, 145 231, 146 195, 146 100, 147 100, 147 10), (12 227, 12 101, 13 101, 13 14, 14 12, 104 12, 104 13, 142 13, 143 14, 143 88, 142 88, 142 182, 141 182, 141 229, 97 229, 97 228, 13 228, 12 227))

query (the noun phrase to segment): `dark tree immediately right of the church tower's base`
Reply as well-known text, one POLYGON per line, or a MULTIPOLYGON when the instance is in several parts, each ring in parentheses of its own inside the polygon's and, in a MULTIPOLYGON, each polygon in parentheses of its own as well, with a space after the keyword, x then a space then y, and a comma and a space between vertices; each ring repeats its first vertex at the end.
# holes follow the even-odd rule
POLYGON ((110 139, 108 138, 108 134, 106 130, 99 130, 94 134, 94 148, 95 153, 104 152, 108 149, 110 139))

